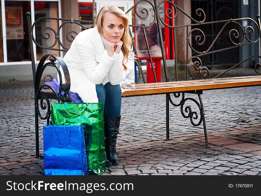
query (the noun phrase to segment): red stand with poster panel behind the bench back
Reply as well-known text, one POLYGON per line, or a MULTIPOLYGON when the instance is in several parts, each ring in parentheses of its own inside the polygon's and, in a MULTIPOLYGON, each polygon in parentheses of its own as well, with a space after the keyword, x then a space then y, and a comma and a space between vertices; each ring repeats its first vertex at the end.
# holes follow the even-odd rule
MULTIPOLYGON (((150 0, 150 1, 154 5, 154 1, 153 0, 150 0)), ((163 0, 159 0, 158 3, 160 3, 161 1, 163 1, 163 0)), ((173 1, 174 0, 171 0, 171 2, 173 2, 173 1)), ((136 3, 136 2, 137 2, 137 0, 134 0, 134 3, 136 3)), ((137 5, 137 12, 141 16, 143 16, 142 12, 141 12, 141 10, 143 8, 146 8, 149 11, 148 17, 145 19, 141 19, 138 16, 136 16, 136 14, 134 12, 134 24, 141 25, 141 26, 148 26, 154 20, 154 11, 153 11, 151 4, 149 4, 146 1, 141 1, 137 5)), ((173 20, 169 20, 169 18, 165 16, 165 10, 167 8, 170 8, 172 10, 172 13, 170 16, 171 17, 173 16, 174 8, 168 2, 164 2, 159 7, 160 16, 162 16, 162 17, 164 16, 164 22, 166 24, 173 26, 173 20)), ((163 43, 164 43, 164 48, 165 48, 166 59, 174 59, 173 29, 163 25, 162 23, 160 25, 161 25, 161 32, 162 32, 162 36, 163 36, 163 43)), ((144 29, 146 32, 149 50, 150 50, 150 54, 152 57, 152 64, 153 64, 153 67, 155 70, 156 81, 161 82, 162 52, 161 52, 161 47, 160 47, 160 38, 159 38, 159 34, 158 34, 157 22, 155 22, 151 27, 147 27, 144 29)), ((149 59, 146 42, 144 39, 143 29, 140 27, 136 27, 133 29, 133 32, 134 32, 135 46, 137 49, 137 53, 139 55, 139 59, 142 60, 141 62, 146 61, 146 65, 147 65, 146 82, 154 83, 156 81, 155 81, 155 78, 153 75, 152 66, 151 66, 151 62, 149 59)))

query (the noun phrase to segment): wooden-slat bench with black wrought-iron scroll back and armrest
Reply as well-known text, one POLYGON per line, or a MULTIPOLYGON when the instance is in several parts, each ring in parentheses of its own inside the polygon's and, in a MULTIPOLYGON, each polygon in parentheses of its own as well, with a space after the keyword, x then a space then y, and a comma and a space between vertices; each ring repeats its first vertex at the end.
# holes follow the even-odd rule
MULTIPOLYGON (((164 67, 164 72, 165 72, 165 82, 160 82, 160 83, 146 83, 142 67, 141 67, 141 61, 139 59, 139 51, 137 51, 137 48, 135 46, 134 40, 133 40, 133 49, 135 51, 135 54, 137 55, 136 63, 137 67, 139 70, 139 78, 137 81, 137 84, 135 84, 135 89, 127 89, 125 92, 122 93, 122 97, 130 97, 130 96, 144 96, 144 95, 157 95, 157 94, 165 94, 166 95, 166 139, 169 139, 169 103, 171 103, 173 106, 178 106, 181 109, 181 114, 184 118, 189 118, 190 123, 193 126, 200 126, 203 124, 204 128, 204 134, 205 134, 205 141, 206 141, 206 146, 208 146, 208 140, 207 140, 207 129, 206 129, 206 122, 205 122, 205 114, 204 114, 204 108, 203 108, 203 101, 201 99, 201 95, 203 94, 204 90, 213 90, 213 89, 225 89, 225 88, 236 88, 236 87, 249 87, 249 86, 258 86, 261 85, 261 76, 242 76, 242 77, 229 77, 229 78, 220 78, 224 73, 227 71, 230 71, 233 68, 238 67, 242 63, 246 62, 249 59, 254 59, 256 63, 254 64, 253 69, 256 71, 257 74, 261 74, 258 70, 261 68, 260 66, 260 59, 261 57, 259 56, 259 51, 257 54, 245 59, 242 62, 239 62, 236 65, 233 65, 232 67, 228 68, 226 71, 223 73, 219 74, 218 76, 215 76, 214 78, 210 79, 210 71, 206 66, 203 66, 200 57, 210 55, 216 52, 220 51, 226 51, 230 50, 232 48, 237 48, 237 47, 243 47, 249 44, 254 44, 257 43, 260 39, 260 16, 257 15, 257 22, 253 20, 252 18, 237 18, 237 19, 228 19, 228 20, 223 20, 223 21, 212 21, 212 22, 206 22, 204 23, 206 19, 205 12, 201 9, 197 9, 196 13, 198 16, 200 14, 198 12, 202 13, 202 20, 197 21, 194 18, 192 18, 189 14, 185 13, 182 9, 180 9, 177 5, 168 2, 171 8, 174 10, 173 15, 170 16, 170 13, 166 12, 165 15, 168 17, 170 20, 174 20, 176 18, 176 15, 179 10, 179 14, 185 14, 187 17, 189 17, 193 23, 192 24, 184 24, 184 25, 179 25, 179 26, 171 26, 166 24, 162 18, 160 18, 159 14, 159 8, 162 6, 162 3, 158 4, 157 0, 154 0, 154 4, 150 3, 150 6, 152 7, 152 14, 154 13, 155 17, 153 22, 150 25, 144 26, 144 25, 130 25, 133 28, 141 28, 143 31, 144 35, 144 41, 147 46, 147 52, 149 56, 149 61, 152 64, 152 57, 151 57, 151 51, 149 48, 148 40, 147 40, 147 35, 146 35, 146 28, 150 28, 152 24, 157 22, 157 28, 158 28, 158 36, 160 40, 160 46, 161 46, 161 54, 163 57, 163 67, 164 67), (154 12, 153 12, 154 11, 154 12), (249 20, 254 24, 254 27, 252 26, 247 26, 245 28, 242 27, 242 25, 239 23, 242 20, 249 20), (220 31, 217 33, 216 37, 214 38, 213 42, 210 44, 209 48, 206 51, 198 51, 194 48, 194 45, 203 45, 205 42, 205 35, 203 31, 200 29, 200 27, 204 26, 205 24, 217 24, 221 23, 223 27, 220 29, 220 31), (229 23, 235 23, 238 25, 238 29, 231 29, 229 31, 229 38, 231 40, 231 43, 233 43, 233 46, 227 47, 227 48, 221 48, 218 50, 213 50, 212 46, 215 44, 217 39, 219 38, 222 30, 227 26, 229 23), (165 27, 172 28, 174 32, 174 43, 176 48, 176 29, 177 28, 186 28, 187 29, 187 35, 184 35, 184 37, 179 37, 179 39, 185 39, 186 40, 186 47, 187 47, 187 54, 186 54, 186 59, 187 62, 185 64, 186 66, 186 81, 178 81, 178 66, 175 66, 175 78, 176 81, 169 81, 169 75, 168 75, 168 68, 167 68, 167 61, 165 58, 165 48, 164 48, 164 43, 163 43, 163 35, 161 31, 161 26, 165 25, 165 27), (199 27, 198 27, 199 26, 199 27), (194 29, 192 29, 194 28, 194 29), (256 29, 254 31, 254 28, 256 29), (191 43, 191 34, 194 30, 197 30, 202 33, 201 36, 196 36, 194 42, 191 43), (247 32, 247 30, 249 30, 247 32), (241 36, 242 40, 240 43, 235 43, 233 39, 237 39, 239 32, 242 31, 241 36), (234 32, 233 36, 231 37, 231 33, 234 32), (248 36, 255 36, 256 39, 252 41, 248 36), (200 42, 201 40, 201 42, 200 42), (194 44, 194 45, 193 45, 194 44), (194 52, 196 52, 196 55, 190 57, 189 56, 189 48, 192 49, 194 52), (193 75, 193 72, 191 70, 191 67, 194 68, 196 71, 198 71, 199 76, 201 77, 200 79, 196 79, 196 77, 193 75), (143 84, 139 84, 140 80, 142 78, 143 84), (178 104, 175 104, 174 101, 171 99, 171 94, 174 94, 175 98, 180 98, 180 102, 178 104), (197 94, 198 95, 198 101, 193 99, 193 98, 185 98, 185 93, 190 94, 197 94), (192 111, 191 106, 185 106, 186 101, 192 101, 195 106, 198 108, 198 111, 192 111), (194 122, 194 120, 198 120, 198 122, 194 122)), ((145 10, 143 12, 145 13, 145 16, 141 16, 141 13, 137 13, 137 10, 135 7, 140 3, 138 1, 135 5, 133 5, 130 10, 128 10, 126 13, 130 12, 131 10, 134 9, 134 14, 136 14, 136 17, 140 18, 146 18, 148 17, 149 10, 147 10, 147 13, 145 10), (146 16, 147 14, 147 16, 146 16)), ((149 3, 149 2, 148 2, 149 3)), ((47 120, 47 125, 49 124, 50 121, 50 101, 49 99, 56 99, 58 102, 71 102, 70 98, 70 76, 68 73, 68 69, 66 67, 65 62, 63 59, 55 54, 47 54, 42 57, 40 60, 37 70, 35 68, 35 58, 34 58, 34 44, 36 44, 37 47, 42 48, 42 49, 47 49, 47 50, 54 50, 54 51, 68 51, 69 48, 66 48, 63 44, 62 41, 60 40, 61 38, 61 32, 60 29, 62 26, 65 24, 76 24, 81 26, 81 28, 86 29, 83 24, 85 23, 93 23, 93 21, 81 21, 81 20, 74 20, 74 19, 64 19, 64 18, 48 18, 48 17, 43 17, 37 19, 33 24, 31 24, 31 18, 30 18, 30 13, 27 12, 27 23, 28 23, 28 31, 30 32, 30 48, 31 48, 31 56, 32 56, 32 69, 33 69, 33 76, 34 76, 34 86, 35 86, 35 128, 36 128, 36 157, 39 157, 39 118, 42 120, 47 120), (52 31, 55 33, 55 43, 50 46, 50 47, 44 47, 41 46, 39 43, 34 38, 34 29, 35 25, 37 22, 40 20, 49 20, 49 21, 60 21, 59 28, 52 31), (59 43, 60 48, 54 48, 55 44, 59 43), (47 60, 49 58, 49 61, 47 60), (59 92, 56 92, 52 87, 48 85, 41 85, 40 82, 43 80, 42 73, 45 70, 46 67, 52 66, 55 67, 60 75, 61 78, 61 73, 59 70, 59 66, 62 66, 63 72, 65 74, 65 83, 60 85, 59 92), (64 92, 65 94, 62 95, 61 93, 64 92), (45 103, 45 102, 46 103, 45 103), (39 103, 40 102, 40 103, 39 103), (41 115, 42 112, 41 110, 47 111, 44 113, 44 115, 41 115)), ((35 29, 35 31, 41 31, 41 35, 44 39, 49 39, 50 35, 47 34, 48 37, 44 37, 44 30, 50 29, 50 27, 44 27, 42 29, 35 29)), ((69 39, 69 34, 72 33, 68 32, 66 34, 67 40, 69 42, 72 42, 72 40, 69 39)), ((73 32, 76 33, 77 32, 73 32)), ((73 38, 73 37, 72 37, 73 38)), ((175 50, 175 57, 176 55, 176 50, 175 50)), ((175 58, 175 65, 177 65, 177 58, 175 58)), ((154 75, 154 79, 156 80, 156 74, 155 70, 152 66, 152 73, 154 75)), ((44 81, 47 81, 46 78, 47 76, 51 77, 50 75, 44 76, 44 81)))

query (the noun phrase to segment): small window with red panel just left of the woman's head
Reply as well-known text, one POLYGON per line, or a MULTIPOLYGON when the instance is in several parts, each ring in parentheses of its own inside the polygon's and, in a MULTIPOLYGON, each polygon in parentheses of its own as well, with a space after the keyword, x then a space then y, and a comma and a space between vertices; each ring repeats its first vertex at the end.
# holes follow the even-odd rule
MULTIPOLYGON (((83 21, 93 21, 93 3, 82 3, 78 2, 78 13, 79 20, 83 21)), ((93 28, 94 25, 91 23, 83 24, 86 29, 93 28)), ((84 29, 81 28, 81 31, 84 29)))

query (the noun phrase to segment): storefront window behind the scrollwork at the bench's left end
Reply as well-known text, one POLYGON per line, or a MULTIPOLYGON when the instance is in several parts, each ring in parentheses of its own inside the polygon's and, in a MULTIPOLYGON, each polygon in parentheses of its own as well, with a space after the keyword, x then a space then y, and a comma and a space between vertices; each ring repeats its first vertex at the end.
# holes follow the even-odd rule
MULTIPOLYGON (((53 17, 58 18, 58 2, 57 1, 34 1, 34 13, 35 20, 41 17, 53 17)), ((46 33, 50 34, 49 39, 44 39, 41 35, 41 31, 44 27, 50 26, 57 32, 59 23, 57 20, 40 20, 36 23, 35 29, 38 29, 36 32, 36 42, 43 47, 50 47, 55 43, 55 34, 50 29, 46 29, 43 32, 45 38, 48 37, 46 33)), ((61 32, 60 32, 61 33, 61 32)), ((59 43, 57 42, 53 48, 60 48, 59 43)), ((40 60, 45 54, 57 54, 60 55, 59 51, 51 51, 36 47, 36 59, 40 60)))

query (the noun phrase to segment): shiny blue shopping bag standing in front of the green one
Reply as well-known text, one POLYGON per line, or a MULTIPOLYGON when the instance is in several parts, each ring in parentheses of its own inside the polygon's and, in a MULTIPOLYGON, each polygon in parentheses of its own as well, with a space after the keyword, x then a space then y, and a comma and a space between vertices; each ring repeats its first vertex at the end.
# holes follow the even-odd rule
POLYGON ((84 126, 43 128, 44 174, 88 175, 84 126))

